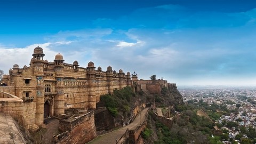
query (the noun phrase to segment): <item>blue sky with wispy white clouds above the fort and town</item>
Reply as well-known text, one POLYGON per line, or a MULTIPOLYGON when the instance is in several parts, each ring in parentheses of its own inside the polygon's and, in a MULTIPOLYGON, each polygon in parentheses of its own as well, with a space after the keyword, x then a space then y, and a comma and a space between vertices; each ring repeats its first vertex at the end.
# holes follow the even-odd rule
POLYGON ((0 69, 33 49, 177 85, 256 85, 256 2, 0 1, 0 69))

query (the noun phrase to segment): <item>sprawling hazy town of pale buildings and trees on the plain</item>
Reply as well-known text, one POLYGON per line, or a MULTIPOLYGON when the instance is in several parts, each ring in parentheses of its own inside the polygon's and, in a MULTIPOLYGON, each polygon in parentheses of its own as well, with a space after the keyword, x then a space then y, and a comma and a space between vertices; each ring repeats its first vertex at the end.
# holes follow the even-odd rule
POLYGON ((241 138, 255 140, 256 135, 250 132, 255 133, 256 127, 255 87, 195 86, 182 87, 179 91, 188 104, 207 103, 205 106, 220 114, 215 124, 228 135, 222 143, 239 143, 241 138))

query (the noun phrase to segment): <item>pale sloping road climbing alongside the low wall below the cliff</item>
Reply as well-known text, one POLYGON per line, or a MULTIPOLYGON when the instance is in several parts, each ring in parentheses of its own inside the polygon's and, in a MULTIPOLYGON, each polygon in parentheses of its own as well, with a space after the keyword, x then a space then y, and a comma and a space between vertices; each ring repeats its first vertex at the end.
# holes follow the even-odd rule
POLYGON ((93 139, 88 144, 99 144, 99 143, 114 144, 114 143, 116 143, 116 139, 119 140, 123 136, 123 134, 125 133, 125 131, 127 129, 134 130, 134 129, 136 129, 136 127, 138 125, 140 125, 140 123, 142 123, 145 120, 147 110, 148 110, 148 108, 145 108, 142 111, 140 111, 140 113, 137 115, 137 117, 134 119, 134 121, 131 124, 126 125, 126 126, 122 127, 121 129, 115 130, 113 132, 99 135, 97 138, 93 139))

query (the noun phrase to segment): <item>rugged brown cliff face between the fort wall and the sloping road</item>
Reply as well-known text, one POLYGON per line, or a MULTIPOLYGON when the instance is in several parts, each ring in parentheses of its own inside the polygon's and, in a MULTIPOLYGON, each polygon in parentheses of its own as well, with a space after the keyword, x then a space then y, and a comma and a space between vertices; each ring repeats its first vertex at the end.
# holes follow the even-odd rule
MULTIPOLYGON (((127 90, 128 91, 128 90, 127 90)), ((129 90, 130 91, 130 90, 129 90)), ((107 101, 100 101, 97 103, 97 109, 95 111, 95 126, 98 134, 102 134, 105 131, 114 129, 114 127, 123 126, 129 124, 133 121, 133 118, 138 114, 140 110, 146 107, 146 103, 156 102, 156 107, 165 106, 165 107, 175 107, 178 105, 184 105, 183 97, 180 92, 177 90, 177 87, 174 85, 169 85, 168 87, 163 87, 161 93, 149 94, 149 92, 138 92, 133 93, 133 96, 129 97, 127 101, 123 98, 127 93, 119 93, 119 90, 116 91, 117 95, 103 95, 102 97, 110 97, 109 99, 115 103, 121 103, 118 106, 118 114, 113 116, 113 113, 110 113, 108 107, 113 109, 111 105, 107 104, 107 101), (125 107, 124 107, 125 106, 125 107), (107 108, 106 108, 107 107, 107 108)), ((126 95, 127 98, 127 95, 126 95)), ((108 100, 108 101, 109 101, 108 100)), ((149 105, 150 106, 150 105, 149 105)), ((174 111, 174 110, 171 110, 174 111)))

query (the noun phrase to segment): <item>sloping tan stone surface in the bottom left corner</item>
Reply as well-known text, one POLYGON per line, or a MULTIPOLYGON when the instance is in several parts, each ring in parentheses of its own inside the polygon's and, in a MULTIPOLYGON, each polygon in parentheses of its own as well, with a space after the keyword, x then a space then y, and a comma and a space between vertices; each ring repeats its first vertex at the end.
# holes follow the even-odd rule
POLYGON ((0 113, 0 143, 27 143, 18 126, 9 114, 0 113))

